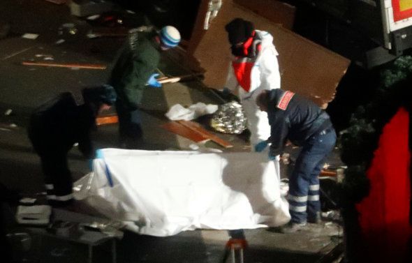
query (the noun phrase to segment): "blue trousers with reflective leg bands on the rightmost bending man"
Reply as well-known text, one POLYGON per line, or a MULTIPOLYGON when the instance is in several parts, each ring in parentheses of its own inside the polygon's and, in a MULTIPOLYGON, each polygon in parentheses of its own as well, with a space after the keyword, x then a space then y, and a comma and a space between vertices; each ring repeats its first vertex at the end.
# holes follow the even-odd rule
POLYGON ((318 132, 307 140, 297 157, 289 178, 289 212, 292 223, 306 223, 321 211, 319 179, 325 158, 334 148, 336 133, 333 128, 318 132))

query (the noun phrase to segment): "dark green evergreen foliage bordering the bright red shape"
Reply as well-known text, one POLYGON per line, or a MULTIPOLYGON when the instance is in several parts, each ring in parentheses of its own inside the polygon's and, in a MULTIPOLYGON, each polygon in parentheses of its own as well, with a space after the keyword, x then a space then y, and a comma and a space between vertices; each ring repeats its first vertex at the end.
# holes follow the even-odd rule
POLYGON ((341 134, 341 160, 348 166, 341 185, 342 202, 357 203, 369 194, 366 171, 378 147, 383 126, 400 106, 409 107, 411 103, 411 73, 411 56, 399 57, 383 70, 383 84, 377 89, 374 99, 358 107, 351 116, 349 127, 341 134))

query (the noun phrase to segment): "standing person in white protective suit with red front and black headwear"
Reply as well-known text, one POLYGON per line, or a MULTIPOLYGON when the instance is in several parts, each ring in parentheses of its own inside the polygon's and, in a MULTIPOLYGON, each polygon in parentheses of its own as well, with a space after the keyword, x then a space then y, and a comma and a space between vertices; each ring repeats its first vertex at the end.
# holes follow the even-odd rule
POLYGON ((237 94, 248 119, 252 146, 267 146, 270 137, 267 114, 260 112, 255 100, 263 89, 279 89, 281 77, 277 61, 278 52, 266 31, 255 30, 253 23, 235 18, 225 27, 228 32, 233 60, 225 89, 237 94))

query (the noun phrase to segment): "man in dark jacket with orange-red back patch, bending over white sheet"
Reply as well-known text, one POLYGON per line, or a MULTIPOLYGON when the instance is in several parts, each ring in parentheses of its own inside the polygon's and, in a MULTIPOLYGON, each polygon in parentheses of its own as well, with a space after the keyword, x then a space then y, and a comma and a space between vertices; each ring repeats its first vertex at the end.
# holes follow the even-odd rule
POLYGON ((279 155, 287 140, 302 147, 289 178, 291 220, 281 232, 296 232, 307 222, 320 223, 318 175, 336 143, 329 115, 311 100, 282 89, 262 91, 256 104, 267 112, 271 126, 269 158, 279 155))

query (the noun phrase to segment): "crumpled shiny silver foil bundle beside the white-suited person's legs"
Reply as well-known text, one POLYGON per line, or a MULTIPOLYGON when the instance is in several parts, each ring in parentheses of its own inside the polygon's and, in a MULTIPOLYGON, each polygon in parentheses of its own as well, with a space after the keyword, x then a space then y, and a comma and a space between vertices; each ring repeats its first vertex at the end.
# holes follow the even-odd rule
POLYGON ((247 118, 242 105, 236 101, 225 103, 214 113, 210 126, 221 133, 240 134, 246 129, 247 118))

